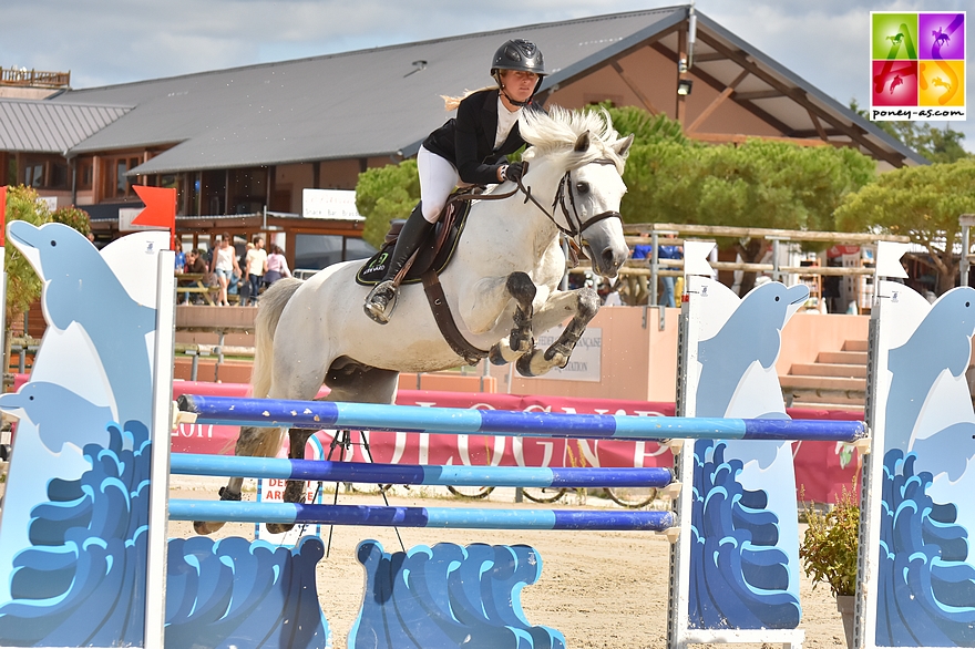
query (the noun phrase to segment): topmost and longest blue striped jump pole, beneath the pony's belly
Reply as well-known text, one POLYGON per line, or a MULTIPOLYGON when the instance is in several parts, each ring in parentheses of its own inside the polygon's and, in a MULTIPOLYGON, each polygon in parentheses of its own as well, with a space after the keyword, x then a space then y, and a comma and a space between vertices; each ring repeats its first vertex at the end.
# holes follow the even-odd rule
POLYGON ((179 409, 198 423, 264 427, 353 429, 525 437, 612 440, 821 440, 854 442, 868 434, 859 421, 563 414, 459 408, 421 408, 184 394, 179 409))

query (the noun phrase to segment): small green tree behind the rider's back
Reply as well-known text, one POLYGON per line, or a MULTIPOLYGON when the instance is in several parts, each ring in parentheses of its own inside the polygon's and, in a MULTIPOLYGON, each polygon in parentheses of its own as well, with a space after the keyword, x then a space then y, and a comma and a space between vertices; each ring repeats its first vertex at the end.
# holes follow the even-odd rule
POLYGON ((362 238, 377 248, 382 246, 389 222, 407 218, 420 200, 417 161, 386 165, 359 174, 356 207, 366 217, 362 238))

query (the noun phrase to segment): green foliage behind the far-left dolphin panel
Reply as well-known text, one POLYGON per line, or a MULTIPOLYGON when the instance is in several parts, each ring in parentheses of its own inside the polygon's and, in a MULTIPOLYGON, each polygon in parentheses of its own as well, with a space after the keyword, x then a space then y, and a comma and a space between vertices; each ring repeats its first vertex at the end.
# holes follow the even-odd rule
MULTIPOLYGON (((7 223, 25 220, 41 226, 51 220, 47 204, 38 200, 38 193, 18 185, 7 189, 7 223)), ((27 258, 14 246, 4 247, 3 267, 7 271, 7 327, 30 309, 41 297, 41 280, 27 258)), ((8 337, 8 344, 10 339, 8 337)), ((8 350, 9 351, 9 350, 8 350)), ((6 358, 10 358, 9 353, 6 358)))

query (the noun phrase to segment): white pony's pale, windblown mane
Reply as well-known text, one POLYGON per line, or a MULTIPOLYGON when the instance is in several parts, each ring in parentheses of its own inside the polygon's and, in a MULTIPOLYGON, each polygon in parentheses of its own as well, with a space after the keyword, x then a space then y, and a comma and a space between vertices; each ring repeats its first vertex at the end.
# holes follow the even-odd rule
POLYGON ((525 159, 537 156, 564 154, 568 159, 566 166, 579 167, 595 159, 613 161, 619 173, 623 173, 626 158, 612 148, 620 137, 613 128, 613 121, 606 110, 569 111, 561 106, 541 111, 522 111, 519 119, 519 132, 531 144, 525 152, 525 159), (589 133, 589 148, 575 152, 573 147, 583 133, 589 133))

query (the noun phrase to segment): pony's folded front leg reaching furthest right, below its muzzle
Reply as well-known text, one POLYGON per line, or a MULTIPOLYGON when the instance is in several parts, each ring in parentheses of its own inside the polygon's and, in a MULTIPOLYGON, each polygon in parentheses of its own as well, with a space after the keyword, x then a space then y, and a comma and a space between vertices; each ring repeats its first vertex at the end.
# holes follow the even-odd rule
POLYGON ((519 373, 523 377, 538 377, 552 368, 564 368, 579 338, 585 333, 586 326, 596 317, 599 305, 599 295, 588 287, 553 293, 535 313, 535 327, 538 331, 554 327, 565 319, 567 312, 573 312, 573 318, 548 349, 544 352, 534 349, 517 360, 515 368, 519 373))

